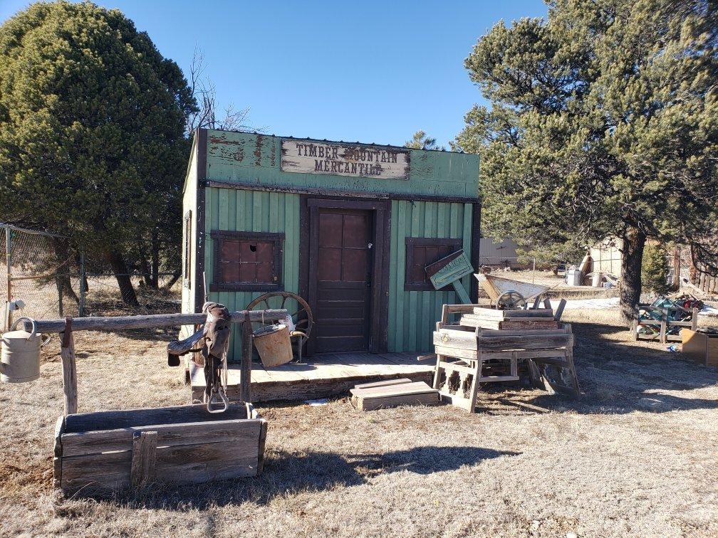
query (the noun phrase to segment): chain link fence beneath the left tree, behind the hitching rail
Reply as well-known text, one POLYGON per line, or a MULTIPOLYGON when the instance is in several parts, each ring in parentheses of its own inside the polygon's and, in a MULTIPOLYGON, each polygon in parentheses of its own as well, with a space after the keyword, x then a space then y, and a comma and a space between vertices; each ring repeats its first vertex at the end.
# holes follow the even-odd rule
POLYGON ((60 235, 0 225, 0 301, 3 328, 27 316, 118 316, 181 309, 180 273, 159 273, 156 283, 138 273, 86 273, 84 256, 60 235), (121 287, 125 280, 129 285, 121 287))

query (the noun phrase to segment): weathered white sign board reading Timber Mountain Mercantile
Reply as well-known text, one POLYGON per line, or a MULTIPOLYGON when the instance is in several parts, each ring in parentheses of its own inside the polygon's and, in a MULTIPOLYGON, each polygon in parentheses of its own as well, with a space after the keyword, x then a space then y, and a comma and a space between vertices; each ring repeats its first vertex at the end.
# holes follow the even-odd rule
POLYGON ((374 179, 409 179, 410 152, 388 146, 289 139, 281 141, 281 171, 374 179))

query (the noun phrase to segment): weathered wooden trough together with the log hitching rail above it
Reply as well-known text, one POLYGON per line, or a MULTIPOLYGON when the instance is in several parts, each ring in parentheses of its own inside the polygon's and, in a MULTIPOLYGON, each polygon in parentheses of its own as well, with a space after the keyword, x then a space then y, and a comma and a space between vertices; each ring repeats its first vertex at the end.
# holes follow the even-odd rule
POLYGON ((210 413, 204 404, 78 413, 73 331, 149 329, 201 324, 203 313, 67 318, 35 321, 60 333, 65 413, 57 419, 53 469, 64 494, 103 496, 144 483, 202 483, 257 476, 267 423, 252 407, 251 322, 278 321, 285 309, 232 312, 242 324, 241 403, 210 413))

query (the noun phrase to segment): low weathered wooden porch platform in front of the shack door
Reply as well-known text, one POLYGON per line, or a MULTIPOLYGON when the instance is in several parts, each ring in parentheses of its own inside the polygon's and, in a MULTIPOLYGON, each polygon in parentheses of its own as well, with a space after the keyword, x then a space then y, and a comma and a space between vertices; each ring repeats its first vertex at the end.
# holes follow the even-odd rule
MULTIPOLYGON (((252 363, 252 402, 274 400, 311 400, 348 394, 358 383, 407 377, 411 381, 431 384, 434 361, 419 362, 416 353, 325 353, 315 354, 305 364, 291 362, 265 369, 252 363)), ((240 400, 240 364, 228 368, 227 395, 231 401, 240 400)), ((190 362, 188 380, 192 398, 202 401, 205 374, 190 362)))

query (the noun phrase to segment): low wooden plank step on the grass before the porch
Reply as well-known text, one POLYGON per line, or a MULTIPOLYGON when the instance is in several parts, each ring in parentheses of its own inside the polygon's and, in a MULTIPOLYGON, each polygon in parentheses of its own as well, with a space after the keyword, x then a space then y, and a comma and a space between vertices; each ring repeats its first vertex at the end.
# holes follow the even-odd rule
POLYGON ((436 405, 439 391, 411 379, 388 379, 355 385, 350 390, 352 404, 360 411, 371 411, 399 405, 436 405))

